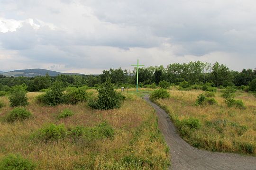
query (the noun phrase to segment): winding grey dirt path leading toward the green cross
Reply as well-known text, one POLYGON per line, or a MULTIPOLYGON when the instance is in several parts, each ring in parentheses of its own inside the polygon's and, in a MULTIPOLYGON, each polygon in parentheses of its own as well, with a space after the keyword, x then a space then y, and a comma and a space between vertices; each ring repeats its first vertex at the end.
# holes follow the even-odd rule
POLYGON ((170 170, 256 170, 256 157, 199 150, 186 143, 177 133, 165 110, 144 97, 155 108, 158 125, 170 147, 170 170))

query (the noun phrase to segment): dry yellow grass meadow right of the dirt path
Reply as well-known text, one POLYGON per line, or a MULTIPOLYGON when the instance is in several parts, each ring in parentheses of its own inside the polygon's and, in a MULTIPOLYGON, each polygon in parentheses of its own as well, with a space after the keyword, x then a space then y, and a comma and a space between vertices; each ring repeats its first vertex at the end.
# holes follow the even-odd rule
MULTIPOLYGON (((201 90, 168 90, 169 99, 155 102, 165 109, 189 144, 209 151, 256 155, 256 97, 237 91, 235 99, 242 100, 246 109, 227 107, 218 89, 213 97, 218 104, 196 105, 201 90), (181 122, 196 120, 198 129, 182 127, 181 122)), ((191 123, 191 124, 190 124, 191 123)))

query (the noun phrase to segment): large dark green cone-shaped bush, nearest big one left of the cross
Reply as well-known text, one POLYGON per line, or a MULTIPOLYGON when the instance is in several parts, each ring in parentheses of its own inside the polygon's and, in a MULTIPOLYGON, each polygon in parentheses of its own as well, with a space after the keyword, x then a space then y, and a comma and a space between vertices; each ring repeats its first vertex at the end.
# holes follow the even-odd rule
POLYGON ((93 109, 110 110, 119 108, 125 100, 125 96, 115 90, 110 77, 100 85, 98 92, 98 99, 89 101, 89 106, 93 109))

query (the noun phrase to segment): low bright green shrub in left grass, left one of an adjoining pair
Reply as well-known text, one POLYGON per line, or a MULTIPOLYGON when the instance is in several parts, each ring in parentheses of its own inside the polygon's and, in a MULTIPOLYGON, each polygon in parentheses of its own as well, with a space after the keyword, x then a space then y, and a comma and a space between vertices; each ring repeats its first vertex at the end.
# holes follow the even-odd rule
POLYGON ((64 138, 67 135, 67 130, 64 124, 55 125, 53 123, 47 124, 44 127, 38 129, 32 134, 32 139, 38 141, 54 141, 64 138))

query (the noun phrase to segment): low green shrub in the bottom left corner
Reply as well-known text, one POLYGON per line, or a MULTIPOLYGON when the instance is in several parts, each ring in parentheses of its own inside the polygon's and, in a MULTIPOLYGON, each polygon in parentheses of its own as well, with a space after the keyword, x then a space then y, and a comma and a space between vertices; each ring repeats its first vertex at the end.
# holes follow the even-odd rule
POLYGON ((23 158, 20 154, 9 153, 0 160, 0 170, 35 170, 33 161, 23 158))

